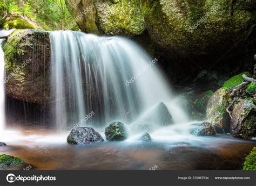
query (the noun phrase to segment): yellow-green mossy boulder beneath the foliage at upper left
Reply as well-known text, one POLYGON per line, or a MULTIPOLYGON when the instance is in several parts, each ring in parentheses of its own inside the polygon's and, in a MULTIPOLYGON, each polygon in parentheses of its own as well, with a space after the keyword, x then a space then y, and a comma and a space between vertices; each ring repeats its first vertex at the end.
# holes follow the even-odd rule
POLYGON ((3 19, 0 20, 0 27, 4 28, 5 30, 10 30, 12 28, 16 29, 41 29, 43 27, 39 25, 39 23, 35 22, 28 17, 21 15, 20 13, 9 13, 3 19))

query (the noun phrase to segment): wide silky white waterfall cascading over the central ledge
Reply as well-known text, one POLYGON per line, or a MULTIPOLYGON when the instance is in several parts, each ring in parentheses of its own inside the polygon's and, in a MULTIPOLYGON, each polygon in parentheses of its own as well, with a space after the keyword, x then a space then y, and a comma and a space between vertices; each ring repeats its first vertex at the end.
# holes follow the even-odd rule
POLYGON ((158 125, 165 108, 174 123, 187 121, 158 60, 135 42, 73 31, 50 32, 50 39, 58 128, 79 121, 95 127, 112 121, 158 125))

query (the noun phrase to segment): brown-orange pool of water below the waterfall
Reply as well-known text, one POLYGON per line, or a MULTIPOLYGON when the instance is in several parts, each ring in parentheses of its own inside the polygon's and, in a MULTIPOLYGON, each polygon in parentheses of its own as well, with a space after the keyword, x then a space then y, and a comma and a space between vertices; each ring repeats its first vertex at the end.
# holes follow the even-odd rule
MULTIPOLYGON (((6 133, 8 146, 0 154, 22 158, 34 170, 194 170, 241 169, 256 141, 229 135, 194 137, 180 142, 102 142, 69 145, 65 134, 48 130, 20 130, 6 133), (154 168, 153 168, 154 169, 154 168)), ((26 165, 4 169, 23 169, 26 165)), ((27 167, 28 169, 28 167, 27 167)))

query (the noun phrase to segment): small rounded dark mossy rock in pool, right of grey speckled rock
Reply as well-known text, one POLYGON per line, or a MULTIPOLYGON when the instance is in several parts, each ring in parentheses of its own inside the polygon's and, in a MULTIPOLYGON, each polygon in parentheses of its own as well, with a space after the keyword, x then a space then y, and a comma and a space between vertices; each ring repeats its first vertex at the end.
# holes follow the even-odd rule
POLYGON ((105 128, 105 135, 109 141, 121 141, 128 137, 128 132, 123 123, 116 121, 105 128))

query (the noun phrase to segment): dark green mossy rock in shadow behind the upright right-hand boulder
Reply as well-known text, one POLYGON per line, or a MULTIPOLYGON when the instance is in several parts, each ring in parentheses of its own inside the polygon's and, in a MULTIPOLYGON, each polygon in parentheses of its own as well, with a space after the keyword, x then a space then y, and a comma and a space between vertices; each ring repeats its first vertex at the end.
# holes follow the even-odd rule
POLYGON ((205 114, 208 100, 213 93, 214 92, 212 90, 208 90, 206 92, 203 92, 203 94, 200 94, 198 98, 193 102, 194 108, 196 108, 199 112, 205 114))

